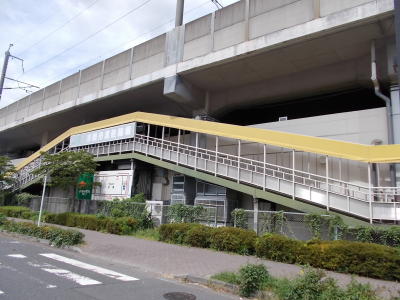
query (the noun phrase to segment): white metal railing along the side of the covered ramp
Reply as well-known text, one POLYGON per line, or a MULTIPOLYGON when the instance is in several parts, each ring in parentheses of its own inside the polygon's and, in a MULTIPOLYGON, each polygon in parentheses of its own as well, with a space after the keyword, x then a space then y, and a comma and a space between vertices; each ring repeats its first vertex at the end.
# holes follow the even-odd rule
MULTIPOLYGON (((300 199, 327 210, 335 209, 361 218, 400 219, 400 189, 369 187, 337 180, 328 176, 274 165, 215 150, 186 145, 167 139, 136 134, 134 138, 81 146, 61 151, 85 150, 96 157, 138 152, 214 176, 235 180, 263 190, 272 190, 300 199)), ((21 171, 20 185, 33 180, 31 171, 40 165, 37 158, 21 171)))

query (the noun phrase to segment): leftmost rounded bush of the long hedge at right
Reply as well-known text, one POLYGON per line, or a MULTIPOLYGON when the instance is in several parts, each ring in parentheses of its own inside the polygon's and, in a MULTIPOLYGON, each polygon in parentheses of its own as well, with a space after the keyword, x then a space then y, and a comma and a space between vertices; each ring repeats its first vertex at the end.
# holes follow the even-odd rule
POLYGON ((283 235, 268 233, 258 238, 256 255, 284 263, 301 263, 307 253, 303 242, 283 235))

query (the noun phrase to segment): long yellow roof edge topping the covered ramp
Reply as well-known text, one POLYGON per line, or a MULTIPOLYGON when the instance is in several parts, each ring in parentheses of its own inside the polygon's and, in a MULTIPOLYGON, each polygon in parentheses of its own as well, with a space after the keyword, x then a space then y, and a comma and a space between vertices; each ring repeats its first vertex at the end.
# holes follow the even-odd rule
POLYGON ((362 145, 247 126, 237 126, 166 115, 135 112, 90 124, 72 127, 45 145, 39 151, 29 156, 16 168, 17 170, 21 169, 35 158, 39 157, 41 152, 50 150, 71 135, 117 126, 129 122, 142 122, 152 125, 171 127, 361 162, 400 163, 400 145, 362 145))

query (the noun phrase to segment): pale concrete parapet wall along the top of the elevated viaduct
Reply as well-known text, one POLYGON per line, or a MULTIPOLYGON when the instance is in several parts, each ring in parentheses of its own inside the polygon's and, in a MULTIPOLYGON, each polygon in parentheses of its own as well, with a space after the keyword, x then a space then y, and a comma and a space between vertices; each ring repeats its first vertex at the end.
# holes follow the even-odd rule
MULTIPOLYGON (((0 130, 7 124, 23 123, 172 76, 179 70, 177 71, 176 66, 168 68, 171 64, 181 63, 181 70, 185 71, 184 63, 196 57, 204 57, 228 48, 231 49, 228 51, 230 55, 234 56, 237 49, 232 46, 236 47, 243 42, 263 36, 268 40, 267 37, 272 33, 283 32, 359 5, 376 3, 378 9, 390 9, 387 2, 388 0, 241 0, 101 61, 1 109, 0 130)), ((363 9, 366 10, 366 7, 363 9)), ((363 9, 359 13, 358 10, 353 11, 351 16, 361 15, 363 9)), ((375 8, 371 5, 369 9, 375 8)), ((335 26, 338 25, 340 24, 335 26)), ((318 26, 317 29, 323 30, 318 26)), ((249 48, 248 51, 252 50, 249 48)), ((218 60, 218 57, 225 58, 224 55, 216 55, 212 60, 218 60)), ((204 60, 200 63, 206 62, 204 60)))

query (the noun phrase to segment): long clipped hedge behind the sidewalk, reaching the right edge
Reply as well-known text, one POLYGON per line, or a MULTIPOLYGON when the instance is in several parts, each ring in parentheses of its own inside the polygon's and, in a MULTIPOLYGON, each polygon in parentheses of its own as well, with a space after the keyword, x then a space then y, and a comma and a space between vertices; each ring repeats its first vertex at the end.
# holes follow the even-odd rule
POLYGON ((284 263, 310 265, 326 270, 384 280, 400 280, 397 249, 350 241, 311 241, 267 234, 258 238, 256 255, 284 263))

